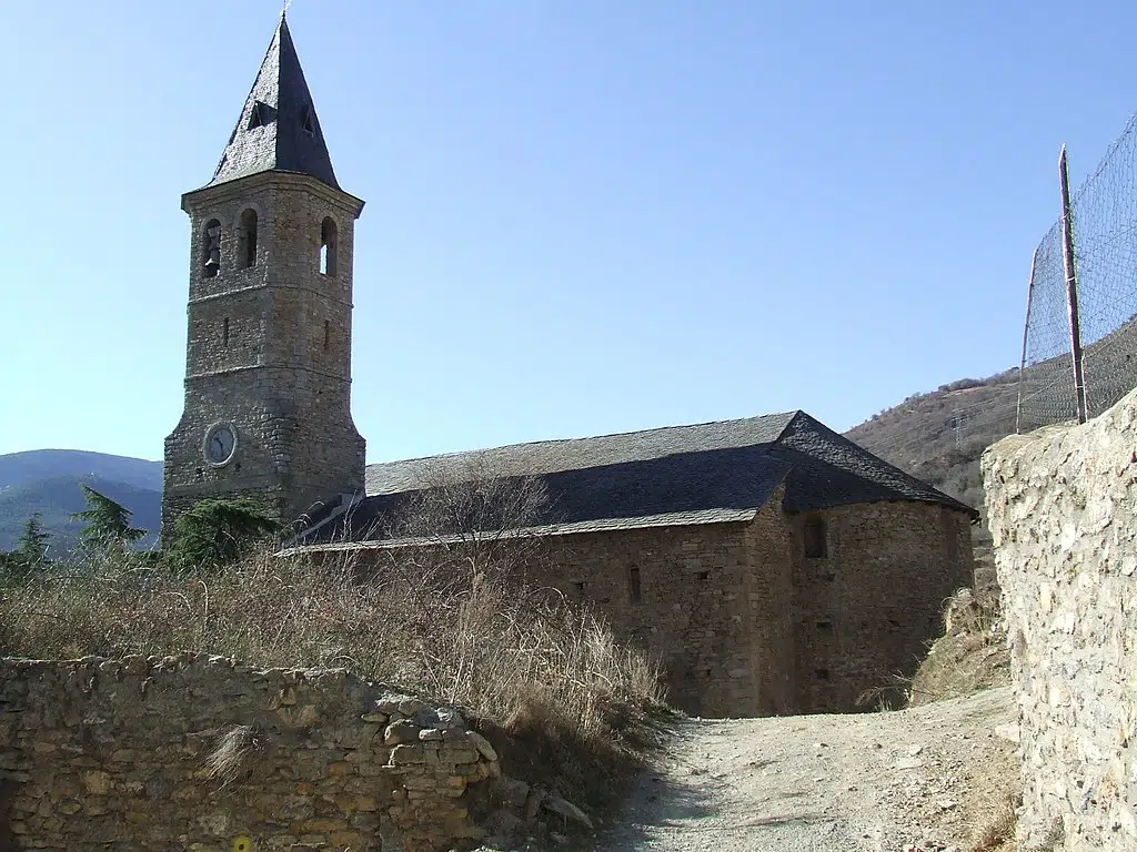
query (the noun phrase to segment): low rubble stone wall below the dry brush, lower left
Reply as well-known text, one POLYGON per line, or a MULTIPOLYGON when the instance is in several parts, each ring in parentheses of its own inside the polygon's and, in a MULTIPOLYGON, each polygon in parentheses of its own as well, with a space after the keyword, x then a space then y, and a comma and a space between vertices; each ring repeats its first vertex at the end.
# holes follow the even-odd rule
POLYGON ((342 670, 0 660, 3 850, 448 850, 499 771, 457 710, 342 670))

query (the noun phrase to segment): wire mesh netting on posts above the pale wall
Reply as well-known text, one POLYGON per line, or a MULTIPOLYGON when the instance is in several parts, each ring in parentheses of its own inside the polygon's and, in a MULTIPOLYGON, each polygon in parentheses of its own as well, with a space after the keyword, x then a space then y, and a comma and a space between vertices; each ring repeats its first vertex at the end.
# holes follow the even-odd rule
MULTIPOLYGON (((1087 416, 1137 387, 1137 116, 1071 199, 1087 416)), ((1078 419, 1062 222, 1035 251, 1019 431, 1078 419)))

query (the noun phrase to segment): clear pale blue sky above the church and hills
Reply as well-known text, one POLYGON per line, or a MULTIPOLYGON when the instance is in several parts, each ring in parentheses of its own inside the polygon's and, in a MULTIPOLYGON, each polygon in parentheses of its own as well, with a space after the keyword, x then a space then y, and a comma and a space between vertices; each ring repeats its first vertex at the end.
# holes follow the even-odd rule
MULTIPOLYGON (((0 3, 0 452, 160 458, 188 218, 280 3, 0 3)), ((1137 109, 1137 5, 294 0, 365 199, 368 459, 1018 362, 1030 253, 1137 109)))

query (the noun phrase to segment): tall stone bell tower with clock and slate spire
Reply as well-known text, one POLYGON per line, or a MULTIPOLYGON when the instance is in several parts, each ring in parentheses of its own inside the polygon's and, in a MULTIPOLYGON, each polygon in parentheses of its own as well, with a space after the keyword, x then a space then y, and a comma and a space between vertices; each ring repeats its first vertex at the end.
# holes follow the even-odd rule
POLYGON ((284 523, 363 493, 351 420, 351 253, 364 202, 335 181, 281 17, 213 179, 189 214, 185 408, 166 438, 163 540, 209 498, 284 523))

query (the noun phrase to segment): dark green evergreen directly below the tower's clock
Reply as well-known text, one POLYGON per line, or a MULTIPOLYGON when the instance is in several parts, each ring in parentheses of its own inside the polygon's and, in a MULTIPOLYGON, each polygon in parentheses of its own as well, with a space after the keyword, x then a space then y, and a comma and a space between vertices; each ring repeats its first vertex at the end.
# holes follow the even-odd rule
POLYGON ((183 570, 232 565, 279 533, 280 524, 252 500, 202 500, 174 521, 171 559, 183 570))

